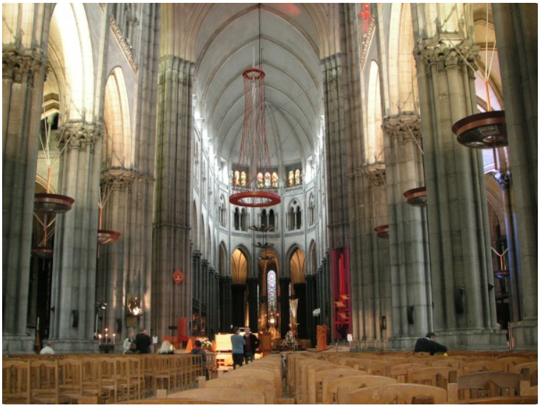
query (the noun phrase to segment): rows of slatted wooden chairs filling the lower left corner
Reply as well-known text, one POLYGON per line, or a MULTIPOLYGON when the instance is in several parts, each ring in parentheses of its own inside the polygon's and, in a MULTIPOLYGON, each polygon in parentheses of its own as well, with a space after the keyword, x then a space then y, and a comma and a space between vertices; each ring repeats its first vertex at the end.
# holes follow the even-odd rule
POLYGON ((4 404, 114 403, 188 389, 203 372, 200 356, 121 355, 4 358, 4 404))

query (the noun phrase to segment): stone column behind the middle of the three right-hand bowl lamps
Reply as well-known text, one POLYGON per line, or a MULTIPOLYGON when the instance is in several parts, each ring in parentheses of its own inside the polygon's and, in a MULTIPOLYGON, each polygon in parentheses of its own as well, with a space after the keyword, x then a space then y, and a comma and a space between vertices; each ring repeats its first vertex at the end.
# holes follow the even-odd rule
POLYGON ((426 210, 403 193, 424 187, 420 121, 415 113, 386 117, 386 183, 390 233, 393 336, 416 338, 433 330, 426 210))

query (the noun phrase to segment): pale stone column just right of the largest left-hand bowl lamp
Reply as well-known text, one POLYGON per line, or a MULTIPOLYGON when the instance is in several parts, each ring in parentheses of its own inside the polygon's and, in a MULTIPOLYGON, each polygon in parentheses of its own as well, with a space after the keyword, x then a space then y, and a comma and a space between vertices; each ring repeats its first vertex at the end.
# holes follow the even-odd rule
POLYGON ((54 235, 50 337, 59 351, 86 351, 94 335, 101 136, 98 123, 66 123, 61 128, 60 146, 67 146, 59 191, 75 204, 56 220, 54 235))

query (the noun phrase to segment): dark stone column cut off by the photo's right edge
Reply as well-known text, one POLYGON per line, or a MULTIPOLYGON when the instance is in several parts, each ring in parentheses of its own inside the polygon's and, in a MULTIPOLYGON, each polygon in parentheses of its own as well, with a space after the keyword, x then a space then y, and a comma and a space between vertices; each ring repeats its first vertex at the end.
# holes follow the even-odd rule
POLYGON ((493 4, 514 184, 516 347, 538 347, 538 4, 493 4))

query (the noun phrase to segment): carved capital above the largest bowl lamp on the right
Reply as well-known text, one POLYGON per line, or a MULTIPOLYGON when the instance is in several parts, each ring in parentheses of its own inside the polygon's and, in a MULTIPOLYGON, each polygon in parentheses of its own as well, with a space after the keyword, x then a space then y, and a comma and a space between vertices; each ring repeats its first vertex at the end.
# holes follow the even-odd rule
MULTIPOLYGON (((447 44, 444 39, 438 42, 433 39, 424 39, 416 44, 414 53, 420 57, 421 61, 424 61, 426 66, 436 64, 439 71, 464 63, 469 63, 476 70, 478 69, 476 59, 479 58, 479 50, 480 47, 471 40, 461 42, 454 40, 454 43, 448 42, 447 44)), ((474 75, 474 73, 472 74, 474 75)))

